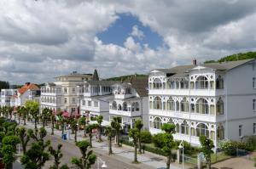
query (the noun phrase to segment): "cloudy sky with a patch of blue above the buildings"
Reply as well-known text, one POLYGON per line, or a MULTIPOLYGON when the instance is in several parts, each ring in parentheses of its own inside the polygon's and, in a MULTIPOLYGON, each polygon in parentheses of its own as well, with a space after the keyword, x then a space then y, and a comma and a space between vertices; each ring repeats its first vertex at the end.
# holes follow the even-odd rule
POLYGON ((2 0, 0 81, 147 74, 256 51, 255 0, 2 0))

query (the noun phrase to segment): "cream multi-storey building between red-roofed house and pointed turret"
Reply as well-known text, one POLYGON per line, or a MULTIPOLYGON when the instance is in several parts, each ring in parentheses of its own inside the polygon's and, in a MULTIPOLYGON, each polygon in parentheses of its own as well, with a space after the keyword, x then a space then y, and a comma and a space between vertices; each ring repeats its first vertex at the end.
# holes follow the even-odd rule
POLYGON ((41 110, 79 112, 77 86, 90 80, 91 76, 74 71, 70 75, 55 77, 55 82, 46 83, 41 87, 41 110))

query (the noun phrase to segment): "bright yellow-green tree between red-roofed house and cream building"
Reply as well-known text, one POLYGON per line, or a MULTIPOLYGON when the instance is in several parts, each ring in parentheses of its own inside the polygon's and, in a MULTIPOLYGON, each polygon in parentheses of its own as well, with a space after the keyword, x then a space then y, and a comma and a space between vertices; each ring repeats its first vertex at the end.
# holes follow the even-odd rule
POLYGON ((36 101, 28 100, 25 103, 25 107, 28 110, 29 114, 32 115, 32 118, 35 122, 35 129, 37 129, 37 123, 39 119, 39 104, 36 101))

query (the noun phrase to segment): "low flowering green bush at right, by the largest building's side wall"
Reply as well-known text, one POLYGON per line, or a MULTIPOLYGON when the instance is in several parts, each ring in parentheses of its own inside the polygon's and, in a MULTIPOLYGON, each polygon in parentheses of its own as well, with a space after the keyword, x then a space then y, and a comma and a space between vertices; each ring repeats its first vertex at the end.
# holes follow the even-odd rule
POLYGON ((252 144, 230 140, 221 142, 219 147, 224 151, 225 155, 236 155, 236 149, 253 150, 252 144))

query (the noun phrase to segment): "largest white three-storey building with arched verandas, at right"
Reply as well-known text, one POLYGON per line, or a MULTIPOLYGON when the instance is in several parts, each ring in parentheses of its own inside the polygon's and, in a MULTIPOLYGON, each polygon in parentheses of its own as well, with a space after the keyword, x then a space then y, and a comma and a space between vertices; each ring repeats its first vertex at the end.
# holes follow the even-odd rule
POLYGON ((151 70, 149 130, 176 125, 175 139, 241 140, 256 134, 256 61, 246 59, 151 70))

